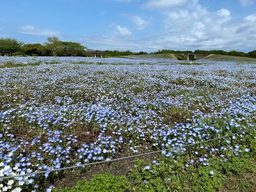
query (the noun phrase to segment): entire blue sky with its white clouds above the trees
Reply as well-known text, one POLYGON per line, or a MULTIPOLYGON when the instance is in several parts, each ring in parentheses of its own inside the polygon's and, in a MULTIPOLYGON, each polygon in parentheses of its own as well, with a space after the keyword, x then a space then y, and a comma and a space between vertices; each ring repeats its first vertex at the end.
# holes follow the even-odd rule
POLYGON ((1 0, 0 37, 88 49, 256 50, 256 0, 1 0))

